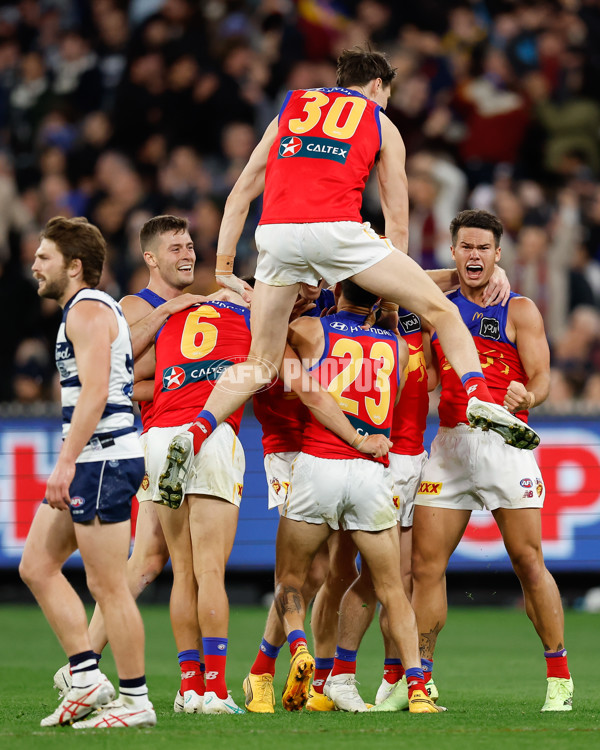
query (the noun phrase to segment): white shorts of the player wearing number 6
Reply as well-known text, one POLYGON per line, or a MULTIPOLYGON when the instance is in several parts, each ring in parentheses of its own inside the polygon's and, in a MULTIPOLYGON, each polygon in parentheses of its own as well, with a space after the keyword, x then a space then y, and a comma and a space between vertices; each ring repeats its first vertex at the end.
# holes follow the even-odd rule
MULTIPOLYGON (((148 489, 144 493, 159 500, 158 479, 171 440, 192 423, 178 427, 151 427, 146 437, 146 471, 148 489)), ((185 489, 186 495, 210 495, 239 506, 244 487, 246 460, 244 449, 232 427, 220 424, 202 445, 192 463, 185 489)))

